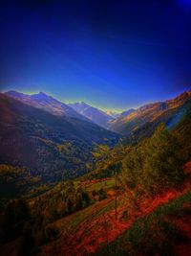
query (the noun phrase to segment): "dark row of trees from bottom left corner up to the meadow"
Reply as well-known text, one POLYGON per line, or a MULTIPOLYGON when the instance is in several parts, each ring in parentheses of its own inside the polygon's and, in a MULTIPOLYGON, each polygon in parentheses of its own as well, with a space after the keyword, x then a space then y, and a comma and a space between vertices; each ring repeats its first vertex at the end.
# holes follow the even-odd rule
POLYGON ((49 226, 50 223, 91 203, 93 201, 85 188, 72 181, 62 182, 38 198, 6 201, 1 204, 0 247, 17 241, 15 249, 18 255, 35 254, 40 245, 57 236, 56 227, 49 226))

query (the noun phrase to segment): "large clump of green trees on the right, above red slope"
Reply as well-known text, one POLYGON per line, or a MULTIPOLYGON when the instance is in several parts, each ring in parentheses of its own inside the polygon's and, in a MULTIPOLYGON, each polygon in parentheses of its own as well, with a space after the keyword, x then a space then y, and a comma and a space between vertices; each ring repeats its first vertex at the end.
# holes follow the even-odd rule
POLYGON ((122 183, 151 194, 179 186, 184 178, 180 148, 175 134, 160 124, 151 138, 132 147, 124 157, 122 183))

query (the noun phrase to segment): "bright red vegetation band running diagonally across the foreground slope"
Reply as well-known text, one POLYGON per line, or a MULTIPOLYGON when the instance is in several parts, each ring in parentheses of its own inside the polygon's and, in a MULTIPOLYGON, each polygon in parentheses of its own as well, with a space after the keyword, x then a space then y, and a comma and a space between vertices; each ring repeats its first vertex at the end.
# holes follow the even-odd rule
MULTIPOLYGON (((190 187, 190 182, 186 182, 181 191, 171 190, 156 198, 146 198, 144 201, 138 203, 137 211, 135 211, 135 208, 130 208, 127 194, 119 195, 117 199, 118 202, 122 200, 124 203, 117 207, 117 221, 114 207, 112 210, 108 210, 97 216, 97 211, 101 211, 101 209, 107 207, 114 199, 112 197, 106 198, 96 203, 95 207, 90 207, 90 220, 82 221, 74 231, 62 234, 52 244, 45 246, 40 255, 52 255, 52 252, 54 253, 53 255, 64 254, 71 256, 94 253, 97 246, 115 240, 117 236, 127 230, 138 217, 144 217, 159 207, 159 205, 167 203, 169 200, 186 193, 190 190, 190 187), (128 211, 127 220, 123 220, 122 218, 124 211, 128 211)), ((83 215, 83 211, 81 211, 81 215, 83 215)), ((70 217, 68 220, 70 220, 70 217)))

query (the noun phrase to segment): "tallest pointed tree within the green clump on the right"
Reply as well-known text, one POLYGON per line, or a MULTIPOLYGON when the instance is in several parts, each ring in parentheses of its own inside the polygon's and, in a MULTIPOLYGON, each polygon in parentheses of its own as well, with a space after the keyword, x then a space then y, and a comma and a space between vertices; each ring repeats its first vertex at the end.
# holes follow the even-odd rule
POLYGON ((179 186, 183 181, 180 144, 177 137, 160 124, 147 141, 142 159, 142 184, 152 193, 179 186))

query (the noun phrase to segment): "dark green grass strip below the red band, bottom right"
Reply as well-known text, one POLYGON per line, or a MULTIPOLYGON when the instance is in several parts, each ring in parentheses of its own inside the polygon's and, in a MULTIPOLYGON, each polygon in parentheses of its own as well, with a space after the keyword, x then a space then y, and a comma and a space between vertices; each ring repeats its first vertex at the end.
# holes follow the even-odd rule
MULTIPOLYGON (((129 230, 114 242, 101 246, 96 254, 108 256, 120 255, 174 255, 173 246, 180 239, 180 230, 166 217, 183 216, 183 204, 191 202, 191 192, 169 203, 159 206, 144 218, 139 218, 129 230)), ((188 213, 188 212, 187 212, 188 213)), ((190 212, 189 212, 190 213, 190 212)), ((191 213, 190 213, 191 214, 191 213)))

